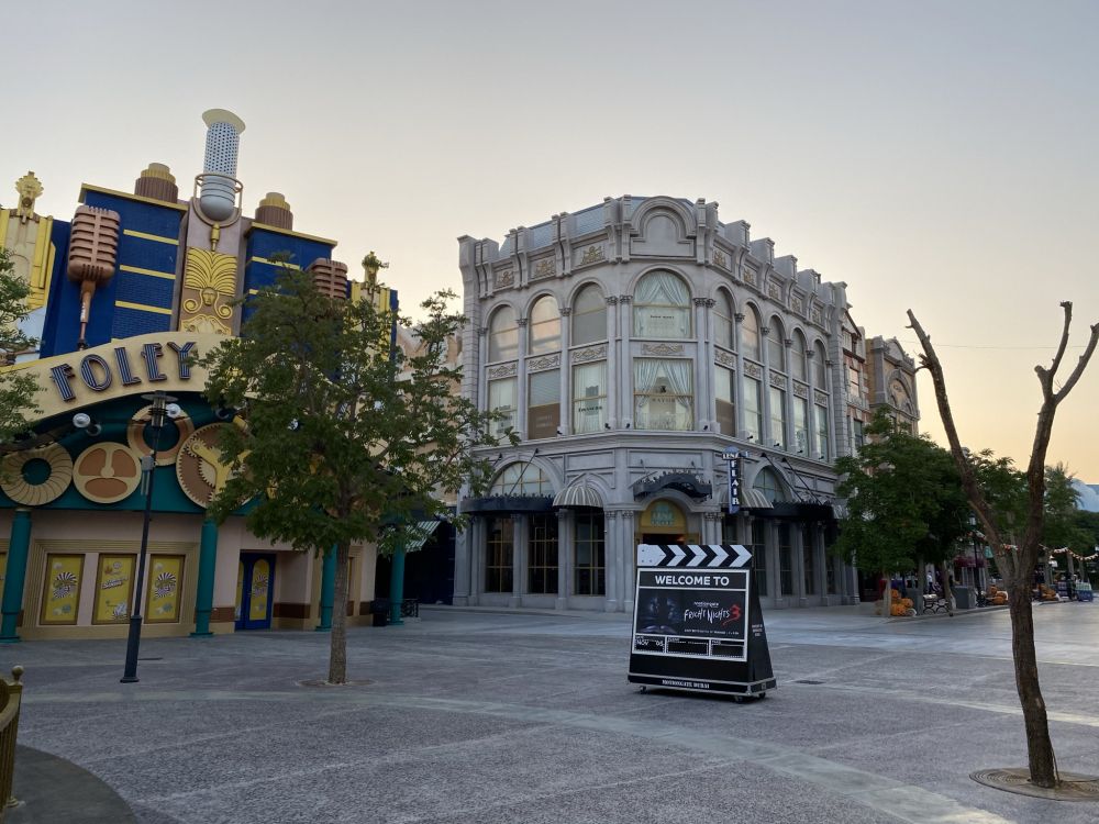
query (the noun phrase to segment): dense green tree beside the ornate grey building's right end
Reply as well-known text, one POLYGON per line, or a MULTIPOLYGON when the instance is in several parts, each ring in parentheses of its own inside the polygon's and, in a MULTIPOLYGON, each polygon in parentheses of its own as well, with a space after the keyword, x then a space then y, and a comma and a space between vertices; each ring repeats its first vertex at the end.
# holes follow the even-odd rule
MULTIPOLYGON (((833 552, 887 579, 918 560, 942 564, 953 557, 968 506, 950 454, 926 436, 896 430, 882 410, 866 433, 869 441, 857 456, 836 461, 847 514, 833 552)), ((889 600, 886 588, 887 616, 889 600)))

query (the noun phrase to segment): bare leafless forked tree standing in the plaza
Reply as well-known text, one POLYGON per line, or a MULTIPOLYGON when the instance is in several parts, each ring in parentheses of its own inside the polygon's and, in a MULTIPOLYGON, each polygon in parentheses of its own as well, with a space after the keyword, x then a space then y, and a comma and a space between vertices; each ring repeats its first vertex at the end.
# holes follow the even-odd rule
POLYGON ((1057 773, 1057 759, 1053 754, 1053 742, 1050 738, 1050 722, 1046 717, 1045 701, 1042 699, 1042 688, 1037 678, 1037 656, 1034 652, 1034 615, 1031 612, 1031 590, 1034 565, 1037 564, 1040 541, 1045 515, 1045 456, 1050 447, 1050 436, 1053 434, 1053 419, 1057 407, 1073 390, 1095 353, 1099 343, 1099 324, 1091 326, 1091 336, 1080 359, 1068 379, 1059 389, 1054 388, 1054 379, 1061 368, 1065 349, 1068 348, 1068 335, 1073 324, 1073 304, 1065 301, 1061 304, 1065 312, 1065 325, 1061 332, 1061 345, 1053 357, 1053 364, 1046 369, 1035 366, 1039 382, 1042 385, 1042 408, 1037 413, 1037 426, 1034 432, 1034 445, 1031 447, 1030 464, 1026 467, 1028 508, 1026 522, 1022 527, 1022 537, 1012 542, 1003 541, 997 526, 996 513, 988 500, 977 476, 974 472, 969 457, 962 448, 951 402, 946 396, 946 380, 943 367, 931 345, 931 336, 915 319, 912 310, 908 310, 911 329, 923 346, 921 369, 931 372, 935 385, 935 400, 939 402, 939 414, 943 419, 943 427, 950 439, 951 455, 962 476, 962 486, 973 505, 974 512, 985 527, 986 535, 992 546, 996 564, 1003 574, 1008 589, 1008 608, 1011 613, 1011 653, 1015 665, 1015 690, 1022 704, 1023 722, 1026 728, 1026 754, 1030 767, 1031 782, 1045 788, 1056 787, 1061 778, 1057 773))

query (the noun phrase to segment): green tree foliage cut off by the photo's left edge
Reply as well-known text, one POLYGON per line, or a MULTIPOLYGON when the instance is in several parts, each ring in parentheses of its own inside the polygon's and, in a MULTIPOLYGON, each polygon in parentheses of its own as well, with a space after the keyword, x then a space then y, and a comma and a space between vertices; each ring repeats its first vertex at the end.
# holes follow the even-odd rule
MULTIPOLYGON (((15 274, 7 249, 0 248, 0 365, 11 365, 15 356, 36 345, 20 324, 27 315, 26 282, 15 274)), ((34 396, 38 385, 18 369, 0 369, 0 444, 10 443, 29 428, 27 414, 37 411, 34 396)))

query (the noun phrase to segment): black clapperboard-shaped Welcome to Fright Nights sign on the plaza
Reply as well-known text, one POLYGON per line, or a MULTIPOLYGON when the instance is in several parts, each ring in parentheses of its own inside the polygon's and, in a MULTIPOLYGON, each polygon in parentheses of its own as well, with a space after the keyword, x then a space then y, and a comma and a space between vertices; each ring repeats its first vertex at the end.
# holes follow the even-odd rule
POLYGON ((630 681, 759 695, 775 689, 752 553, 739 544, 641 544, 630 681))

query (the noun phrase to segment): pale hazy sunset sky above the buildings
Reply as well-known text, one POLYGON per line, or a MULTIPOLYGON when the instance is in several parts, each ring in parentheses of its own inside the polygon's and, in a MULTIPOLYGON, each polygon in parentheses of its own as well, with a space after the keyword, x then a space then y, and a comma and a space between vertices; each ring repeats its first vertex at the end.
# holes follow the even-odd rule
MULTIPOLYGON (((846 282, 867 335, 915 354, 912 309, 963 443, 1021 466, 1058 304, 1063 378, 1099 323, 1091 1, 9 0, 0 22, 19 33, 5 205, 29 169, 38 211, 66 220, 81 182, 131 191, 149 162, 189 193, 201 114, 230 109, 245 212, 282 192, 353 271, 368 249, 390 261, 414 313, 460 290, 460 235, 609 196, 702 197, 846 282)), ((920 376, 921 430, 945 443, 920 376)), ((1047 458, 1090 482, 1097 405, 1099 357, 1047 458)))

